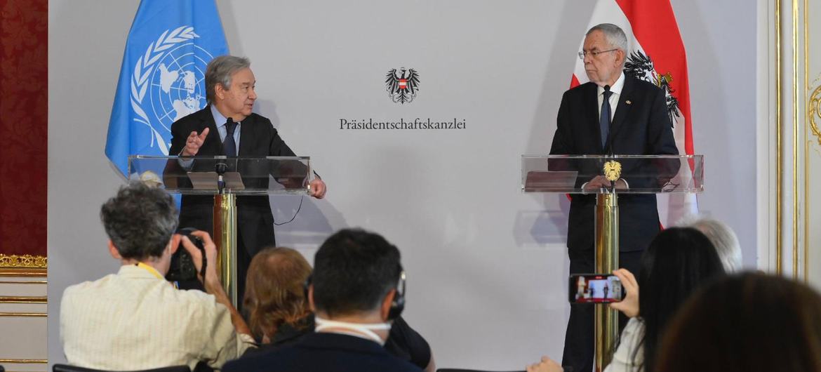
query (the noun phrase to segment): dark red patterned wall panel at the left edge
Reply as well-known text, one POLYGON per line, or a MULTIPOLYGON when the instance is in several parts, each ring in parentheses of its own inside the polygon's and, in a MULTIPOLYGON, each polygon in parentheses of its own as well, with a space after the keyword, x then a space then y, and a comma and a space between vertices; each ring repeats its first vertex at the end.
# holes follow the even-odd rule
POLYGON ((0 0, 0 255, 46 255, 48 0, 0 0))

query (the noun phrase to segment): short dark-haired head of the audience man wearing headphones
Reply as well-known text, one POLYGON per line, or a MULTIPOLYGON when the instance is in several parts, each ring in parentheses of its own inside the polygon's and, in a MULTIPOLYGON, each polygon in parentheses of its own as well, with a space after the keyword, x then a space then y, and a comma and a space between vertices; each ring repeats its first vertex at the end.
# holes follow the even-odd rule
POLYGON ((384 313, 396 296, 399 258, 397 247, 373 232, 344 229, 328 237, 314 256, 315 310, 328 318, 384 313))

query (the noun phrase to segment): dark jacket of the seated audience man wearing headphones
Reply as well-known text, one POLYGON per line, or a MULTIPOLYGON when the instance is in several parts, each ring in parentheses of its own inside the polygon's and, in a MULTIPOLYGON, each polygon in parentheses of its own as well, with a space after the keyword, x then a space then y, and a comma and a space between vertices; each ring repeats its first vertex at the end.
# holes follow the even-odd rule
POLYGON ((420 372, 376 342, 337 333, 310 333, 289 346, 242 357, 224 372, 420 372))

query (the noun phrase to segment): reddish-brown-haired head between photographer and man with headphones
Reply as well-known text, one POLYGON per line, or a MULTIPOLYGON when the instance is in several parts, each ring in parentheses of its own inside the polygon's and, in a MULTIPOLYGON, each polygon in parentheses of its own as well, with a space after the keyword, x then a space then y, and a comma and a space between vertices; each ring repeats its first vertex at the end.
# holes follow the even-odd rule
POLYGON ((310 264, 291 248, 265 248, 251 259, 243 303, 256 336, 273 338, 280 325, 299 327, 310 315, 305 298, 309 276, 310 264))

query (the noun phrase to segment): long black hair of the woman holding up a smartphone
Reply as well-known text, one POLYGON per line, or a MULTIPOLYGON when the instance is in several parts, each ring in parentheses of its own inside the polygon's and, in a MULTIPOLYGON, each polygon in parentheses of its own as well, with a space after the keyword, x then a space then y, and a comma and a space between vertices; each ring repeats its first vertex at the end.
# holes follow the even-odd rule
POLYGON ((700 285, 723 274, 713 244, 694 228, 667 228, 650 242, 641 256, 638 279, 644 370, 655 370, 658 340, 676 310, 700 285))

